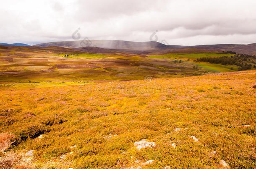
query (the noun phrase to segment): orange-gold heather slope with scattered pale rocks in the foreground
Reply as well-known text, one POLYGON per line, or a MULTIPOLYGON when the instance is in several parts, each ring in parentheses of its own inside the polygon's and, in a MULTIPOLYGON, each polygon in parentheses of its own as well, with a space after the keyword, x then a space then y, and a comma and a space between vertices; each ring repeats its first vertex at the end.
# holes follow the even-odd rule
POLYGON ((94 83, 87 90, 81 85, 2 87, 0 132, 29 136, 13 150, 34 149, 28 163, 37 167, 136 167, 153 159, 151 168, 218 168, 223 159, 232 168, 253 168, 255 79, 256 71, 245 71, 94 83), (250 126, 240 127, 245 124, 250 126), (157 146, 137 151, 133 144, 142 139, 157 146))

